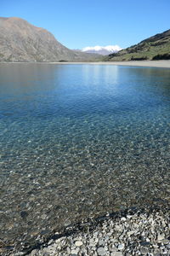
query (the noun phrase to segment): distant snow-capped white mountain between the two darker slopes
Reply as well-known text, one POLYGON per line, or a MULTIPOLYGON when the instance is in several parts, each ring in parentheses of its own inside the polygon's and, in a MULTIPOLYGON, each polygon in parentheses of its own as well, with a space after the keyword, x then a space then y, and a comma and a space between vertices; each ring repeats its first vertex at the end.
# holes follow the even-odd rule
POLYGON ((107 45, 107 46, 88 46, 85 48, 82 48, 82 52, 86 52, 86 53, 95 53, 95 54, 99 54, 99 55, 110 55, 111 53, 115 53, 119 50, 121 50, 122 48, 119 45, 107 45))

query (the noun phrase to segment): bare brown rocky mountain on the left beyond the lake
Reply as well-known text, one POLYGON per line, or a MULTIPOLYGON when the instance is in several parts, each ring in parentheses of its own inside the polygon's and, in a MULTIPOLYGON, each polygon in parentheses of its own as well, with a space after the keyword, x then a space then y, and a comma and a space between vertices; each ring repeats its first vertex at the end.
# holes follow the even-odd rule
POLYGON ((94 61, 97 57, 66 48, 52 33, 26 20, 0 17, 0 61, 94 61))

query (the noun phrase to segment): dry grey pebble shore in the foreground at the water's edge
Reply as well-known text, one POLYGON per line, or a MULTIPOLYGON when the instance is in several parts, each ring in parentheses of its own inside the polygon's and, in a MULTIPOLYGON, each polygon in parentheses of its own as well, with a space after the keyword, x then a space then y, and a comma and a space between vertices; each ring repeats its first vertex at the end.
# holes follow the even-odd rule
POLYGON ((10 256, 170 255, 169 207, 107 214, 55 233, 30 253, 10 256))

